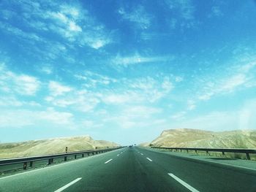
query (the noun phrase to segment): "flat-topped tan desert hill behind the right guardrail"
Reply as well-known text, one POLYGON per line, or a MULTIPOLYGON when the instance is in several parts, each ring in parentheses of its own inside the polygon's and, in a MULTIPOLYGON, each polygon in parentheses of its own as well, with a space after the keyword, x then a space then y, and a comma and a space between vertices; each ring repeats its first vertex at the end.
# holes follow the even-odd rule
POLYGON ((203 131, 178 128, 162 131, 151 142, 156 147, 256 148, 256 131, 203 131))

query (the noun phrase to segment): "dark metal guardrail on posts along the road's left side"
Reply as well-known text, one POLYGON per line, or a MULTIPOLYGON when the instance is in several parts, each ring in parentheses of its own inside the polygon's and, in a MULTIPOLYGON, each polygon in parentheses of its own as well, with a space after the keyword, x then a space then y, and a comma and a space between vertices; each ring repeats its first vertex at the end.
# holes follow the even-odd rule
POLYGON ((12 164, 23 164, 23 169, 27 169, 27 166, 33 166, 34 161, 44 161, 48 160, 48 165, 53 164, 54 158, 64 158, 64 161, 67 161, 67 157, 74 156, 75 159, 78 155, 81 155, 82 158, 84 155, 96 155, 98 153, 105 153, 111 150, 117 150, 122 147, 116 147, 116 148, 108 148, 103 150, 84 150, 84 151, 76 151, 76 152, 70 152, 70 153, 59 153, 54 155, 39 155, 39 156, 32 156, 32 157, 25 157, 25 158, 8 158, 8 159, 0 159, 0 166, 7 166, 12 164))

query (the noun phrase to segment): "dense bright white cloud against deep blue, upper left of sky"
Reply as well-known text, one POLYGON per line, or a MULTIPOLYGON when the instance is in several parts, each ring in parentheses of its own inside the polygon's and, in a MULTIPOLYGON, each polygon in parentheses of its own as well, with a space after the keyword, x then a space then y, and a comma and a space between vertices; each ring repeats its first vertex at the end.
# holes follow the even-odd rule
POLYGON ((105 26, 98 23, 79 5, 71 6, 62 4, 59 11, 52 11, 46 17, 53 20, 50 30, 61 34, 70 42, 78 42, 79 45, 88 45, 99 49, 112 42, 110 32, 105 26))

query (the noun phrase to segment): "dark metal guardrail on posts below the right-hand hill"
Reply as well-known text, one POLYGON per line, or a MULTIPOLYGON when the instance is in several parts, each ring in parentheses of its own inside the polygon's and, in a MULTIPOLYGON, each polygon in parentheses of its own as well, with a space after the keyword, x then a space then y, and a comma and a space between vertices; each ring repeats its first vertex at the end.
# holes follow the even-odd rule
POLYGON ((187 148, 187 147, 154 147, 151 146, 151 148, 157 148, 157 149, 164 149, 164 150, 187 150, 187 153, 189 152, 189 150, 193 150, 195 151, 195 153, 197 153, 197 151, 206 151, 206 154, 208 154, 209 152, 221 152, 222 155, 225 155, 225 153, 244 153, 246 154, 246 158, 248 160, 250 160, 250 156, 249 154, 256 154, 256 150, 255 149, 230 149, 230 148, 187 148))

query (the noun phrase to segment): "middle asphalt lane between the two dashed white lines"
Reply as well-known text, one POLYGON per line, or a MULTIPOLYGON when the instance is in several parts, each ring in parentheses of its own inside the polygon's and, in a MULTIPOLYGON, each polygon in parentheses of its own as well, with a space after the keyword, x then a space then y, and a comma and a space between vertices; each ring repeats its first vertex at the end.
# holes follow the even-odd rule
POLYGON ((80 175, 83 182, 71 186, 69 191, 188 191, 145 156, 136 153, 135 148, 128 148, 111 162, 90 177, 80 175))

